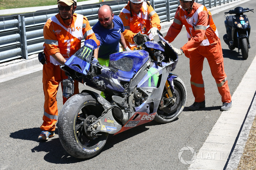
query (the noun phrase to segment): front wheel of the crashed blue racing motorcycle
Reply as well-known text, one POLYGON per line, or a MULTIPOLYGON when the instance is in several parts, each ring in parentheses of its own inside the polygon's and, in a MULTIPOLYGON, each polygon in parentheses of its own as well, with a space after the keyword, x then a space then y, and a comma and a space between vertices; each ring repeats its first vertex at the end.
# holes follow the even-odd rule
MULTIPOLYGON (((168 83, 170 84, 169 81, 168 83)), ((173 80, 173 85, 174 85, 174 93, 175 93, 174 94, 175 103, 171 103, 162 109, 158 108, 156 116, 154 118, 156 122, 160 122, 160 123, 172 122, 180 115, 180 113, 184 109, 184 106, 187 100, 187 90, 186 90, 185 84, 180 78, 177 77, 173 80)))

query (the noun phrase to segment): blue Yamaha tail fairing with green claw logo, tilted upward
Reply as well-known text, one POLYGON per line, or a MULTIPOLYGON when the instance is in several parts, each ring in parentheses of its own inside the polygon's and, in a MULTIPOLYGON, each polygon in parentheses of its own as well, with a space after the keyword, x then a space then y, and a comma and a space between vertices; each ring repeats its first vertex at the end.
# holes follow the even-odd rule
POLYGON ((76 53, 66 61, 65 65, 79 73, 86 75, 86 70, 90 69, 95 48, 97 48, 97 44, 94 40, 89 39, 84 41, 84 46, 77 50, 76 53))

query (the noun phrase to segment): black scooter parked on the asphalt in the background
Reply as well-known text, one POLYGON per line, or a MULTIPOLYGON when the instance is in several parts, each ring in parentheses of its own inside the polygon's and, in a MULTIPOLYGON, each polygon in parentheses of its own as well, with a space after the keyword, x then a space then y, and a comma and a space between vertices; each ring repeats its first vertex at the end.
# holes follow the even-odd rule
POLYGON ((251 48, 249 42, 251 26, 249 19, 246 15, 244 15, 244 12, 249 12, 252 10, 253 9, 236 7, 234 10, 225 12, 225 15, 235 15, 227 16, 226 20, 224 21, 227 34, 223 36, 223 39, 230 50, 238 48, 238 52, 240 52, 241 49, 242 57, 245 60, 248 58, 248 49, 251 48))

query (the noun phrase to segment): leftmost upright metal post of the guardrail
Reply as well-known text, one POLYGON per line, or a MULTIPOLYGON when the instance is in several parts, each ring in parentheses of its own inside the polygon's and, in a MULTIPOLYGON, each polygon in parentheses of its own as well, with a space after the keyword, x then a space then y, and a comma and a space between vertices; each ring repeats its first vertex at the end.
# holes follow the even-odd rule
POLYGON ((28 59, 28 49, 27 49, 27 37, 26 37, 26 28, 25 28, 25 17, 19 17, 19 28, 20 28, 20 42, 21 42, 21 52, 22 58, 28 59))

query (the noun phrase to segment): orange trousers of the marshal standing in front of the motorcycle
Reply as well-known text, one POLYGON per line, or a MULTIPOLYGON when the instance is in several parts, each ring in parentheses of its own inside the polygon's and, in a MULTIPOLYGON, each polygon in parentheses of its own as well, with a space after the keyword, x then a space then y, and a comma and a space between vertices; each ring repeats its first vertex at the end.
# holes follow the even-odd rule
POLYGON ((231 101, 231 95, 228 87, 227 75, 224 71, 220 40, 209 46, 199 46, 190 54, 190 56, 190 83, 195 102, 202 102, 205 100, 202 70, 204 58, 206 58, 221 95, 221 101, 223 103, 229 103, 231 101))

